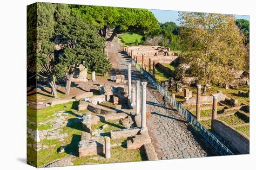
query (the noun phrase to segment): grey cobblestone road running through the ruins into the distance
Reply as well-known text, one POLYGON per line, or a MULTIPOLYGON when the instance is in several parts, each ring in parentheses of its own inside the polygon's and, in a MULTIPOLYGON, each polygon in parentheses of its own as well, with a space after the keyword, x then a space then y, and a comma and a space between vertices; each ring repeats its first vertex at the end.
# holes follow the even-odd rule
MULTIPOLYGON (((114 72, 127 76, 127 63, 131 59, 113 41, 109 48, 114 72)), ((127 79, 127 77, 126 77, 127 79)), ((132 86, 135 81, 146 81, 132 66, 132 86)), ((188 124, 169 104, 163 107, 161 94, 149 82, 147 87, 147 127, 159 159, 206 157, 219 155, 203 137, 188 124)))

